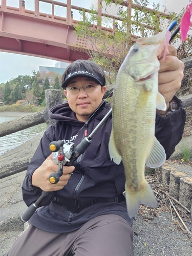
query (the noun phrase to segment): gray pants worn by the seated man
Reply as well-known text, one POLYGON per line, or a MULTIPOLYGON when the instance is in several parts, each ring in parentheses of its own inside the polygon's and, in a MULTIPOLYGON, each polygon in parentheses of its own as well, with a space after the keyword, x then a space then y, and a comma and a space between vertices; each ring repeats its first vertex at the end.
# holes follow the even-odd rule
POLYGON ((32 225, 4 256, 133 256, 133 230, 118 215, 101 215, 70 233, 32 225))

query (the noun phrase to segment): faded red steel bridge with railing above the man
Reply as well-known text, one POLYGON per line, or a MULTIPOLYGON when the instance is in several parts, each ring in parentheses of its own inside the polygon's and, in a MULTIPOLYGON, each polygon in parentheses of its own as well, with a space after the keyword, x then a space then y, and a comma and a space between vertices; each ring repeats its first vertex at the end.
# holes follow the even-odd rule
MULTIPOLYGON (((25 8, 25 1, 18 1, 17 8, 7 6, 6 0, 2 0, 0 5, 0 51, 68 62, 88 59, 83 49, 92 49, 91 42, 87 38, 79 38, 74 33, 74 27, 79 20, 74 20, 72 13, 82 11, 84 18, 91 10, 73 6, 71 0, 67 0, 67 4, 51 0, 34 0, 34 11, 32 11, 25 8), (51 14, 39 12, 40 2, 50 6, 51 14), (56 8, 65 10, 66 15, 56 16, 56 8)), ((102 13, 101 4, 102 0, 98 0, 98 17, 100 20, 103 16, 110 17, 113 26, 112 28, 102 27, 102 24, 95 26, 114 33, 116 19, 119 18, 102 13)), ((126 6, 127 15, 131 15, 132 8, 141 8, 131 5, 130 1, 123 1, 121 5, 126 6)), ((161 14, 165 15, 165 13, 161 14)))

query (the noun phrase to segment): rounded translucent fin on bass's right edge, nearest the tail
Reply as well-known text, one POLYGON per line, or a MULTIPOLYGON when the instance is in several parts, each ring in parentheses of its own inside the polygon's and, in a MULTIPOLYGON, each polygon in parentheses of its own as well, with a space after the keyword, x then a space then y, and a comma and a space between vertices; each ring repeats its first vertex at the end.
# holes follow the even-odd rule
POLYGON ((145 161, 146 166, 150 168, 157 168, 161 166, 166 160, 166 154, 164 147, 159 143, 159 141, 155 138, 152 146, 152 150, 150 155, 145 161))

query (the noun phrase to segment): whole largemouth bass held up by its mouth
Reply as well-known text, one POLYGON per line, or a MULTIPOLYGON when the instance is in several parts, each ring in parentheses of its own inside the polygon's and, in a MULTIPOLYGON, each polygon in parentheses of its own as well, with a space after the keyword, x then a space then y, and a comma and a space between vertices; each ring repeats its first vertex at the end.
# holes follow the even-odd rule
POLYGON ((158 92, 157 56, 163 50, 160 37, 158 34, 136 41, 118 71, 114 87, 109 152, 115 163, 123 162, 126 205, 131 218, 140 204, 157 206, 144 169, 145 164, 159 167, 166 159, 164 148, 155 137, 156 108, 166 110, 165 99, 158 92))

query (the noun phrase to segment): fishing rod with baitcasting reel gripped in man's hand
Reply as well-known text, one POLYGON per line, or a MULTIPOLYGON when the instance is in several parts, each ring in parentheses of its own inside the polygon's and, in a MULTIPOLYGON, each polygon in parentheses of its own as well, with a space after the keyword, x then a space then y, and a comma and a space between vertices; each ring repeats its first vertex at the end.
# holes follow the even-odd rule
MULTIPOLYGON (((58 171, 54 174, 51 174, 49 177, 49 181, 52 184, 55 184, 59 181, 59 177, 62 175, 62 167, 63 165, 71 166, 76 159, 82 155, 88 146, 92 142, 93 136, 97 133, 99 128, 103 125, 103 123, 111 116, 112 109, 103 117, 103 119, 99 122, 99 124, 95 127, 95 129, 91 132, 91 134, 88 137, 85 137, 82 139, 82 141, 75 147, 75 144, 72 142, 65 143, 63 140, 53 141, 49 144, 49 148, 52 152, 57 152, 57 157, 54 156, 54 161, 57 158, 58 161, 58 171)), ((41 196, 36 200, 35 203, 32 203, 27 210, 24 212, 24 214, 21 217, 21 220, 23 222, 27 222, 31 216, 34 214, 36 209, 39 207, 38 205, 44 199, 50 194, 50 191, 42 191, 41 196)))

